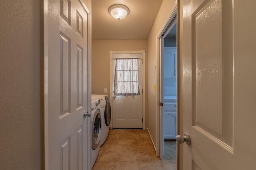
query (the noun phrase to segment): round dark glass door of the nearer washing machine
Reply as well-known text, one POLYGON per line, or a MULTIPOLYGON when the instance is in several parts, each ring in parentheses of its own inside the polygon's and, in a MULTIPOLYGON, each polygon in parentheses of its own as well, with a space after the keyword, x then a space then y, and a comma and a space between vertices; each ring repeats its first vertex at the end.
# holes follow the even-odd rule
POLYGON ((94 113, 92 120, 92 149, 97 149, 100 145, 100 135, 101 135, 101 117, 100 110, 97 109, 94 113))

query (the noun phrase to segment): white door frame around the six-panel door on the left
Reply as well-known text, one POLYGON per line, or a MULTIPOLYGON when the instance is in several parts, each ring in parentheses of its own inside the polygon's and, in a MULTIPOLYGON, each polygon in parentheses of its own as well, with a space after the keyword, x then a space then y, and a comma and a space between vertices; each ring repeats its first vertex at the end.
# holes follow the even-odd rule
MULTIPOLYGON (((87 35, 87 107, 88 110, 91 110, 92 102, 91 102, 91 94, 92 94, 92 77, 91 77, 91 70, 92 70, 92 16, 90 11, 88 10, 87 6, 84 4, 82 0, 79 0, 80 4, 84 8, 84 10, 87 12, 88 15, 88 35, 87 35)), ((42 0, 40 4, 40 103, 41 103, 41 116, 40 116, 40 122, 41 122, 41 168, 44 170, 48 170, 49 168, 49 162, 48 162, 48 0, 42 0)), ((86 169, 90 169, 90 157, 91 157, 91 119, 87 119, 87 127, 85 129, 87 130, 87 162, 85 163, 87 167, 86 169)))

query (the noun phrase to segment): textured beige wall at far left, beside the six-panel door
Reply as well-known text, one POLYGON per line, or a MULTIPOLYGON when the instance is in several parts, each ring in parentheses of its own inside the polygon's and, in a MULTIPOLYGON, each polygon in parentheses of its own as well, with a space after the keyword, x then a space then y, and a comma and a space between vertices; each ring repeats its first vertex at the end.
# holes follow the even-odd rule
POLYGON ((0 169, 40 169, 40 0, 0 5, 0 169))

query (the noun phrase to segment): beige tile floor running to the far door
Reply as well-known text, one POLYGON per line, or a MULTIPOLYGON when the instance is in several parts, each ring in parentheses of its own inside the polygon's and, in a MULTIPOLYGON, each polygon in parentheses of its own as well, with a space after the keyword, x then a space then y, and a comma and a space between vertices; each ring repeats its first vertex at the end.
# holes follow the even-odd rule
POLYGON ((165 141, 160 160, 148 131, 110 130, 92 170, 176 170, 176 142, 165 141))

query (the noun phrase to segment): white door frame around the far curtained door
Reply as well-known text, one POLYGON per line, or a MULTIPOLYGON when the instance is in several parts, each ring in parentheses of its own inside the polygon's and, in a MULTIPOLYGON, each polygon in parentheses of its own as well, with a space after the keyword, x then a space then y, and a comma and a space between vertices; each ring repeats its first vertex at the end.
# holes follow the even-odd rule
MULTIPOLYGON (((142 54, 142 129, 146 129, 146 119, 145 119, 145 50, 141 51, 109 51, 109 102, 110 107, 113 108, 113 92, 112 92, 112 80, 114 80, 114 77, 112 77, 112 54, 142 54)), ((111 112, 111 117, 113 117, 113 113, 111 112)), ((113 129, 113 119, 110 121, 109 127, 113 129)))

